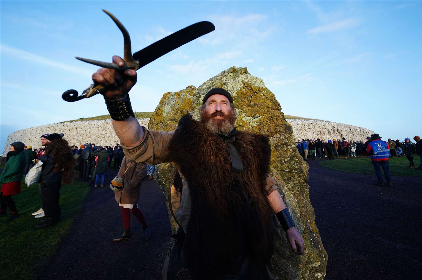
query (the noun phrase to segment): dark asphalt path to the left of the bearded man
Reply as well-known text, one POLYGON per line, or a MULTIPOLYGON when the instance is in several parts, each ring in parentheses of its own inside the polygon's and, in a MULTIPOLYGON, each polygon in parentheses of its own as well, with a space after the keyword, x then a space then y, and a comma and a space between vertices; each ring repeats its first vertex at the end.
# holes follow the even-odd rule
POLYGON ((123 232, 122 212, 108 187, 116 174, 108 171, 106 187, 91 186, 82 213, 37 279, 161 279, 171 242, 162 192, 154 180, 142 182, 139 208, 151 230, 151 239, 145 240, 141 225, 130 214, 130 239, 114 243, 112 239, 123 232))

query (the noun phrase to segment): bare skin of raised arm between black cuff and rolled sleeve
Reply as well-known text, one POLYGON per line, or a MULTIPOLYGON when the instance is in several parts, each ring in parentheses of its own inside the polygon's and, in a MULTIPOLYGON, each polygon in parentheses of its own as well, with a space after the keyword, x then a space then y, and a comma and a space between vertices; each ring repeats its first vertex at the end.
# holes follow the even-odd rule
POLYGON ((114 131, 120 139, 120 143, 127 147, 138 145, 143 138, 143 129, 135 117, 129 117, 126 120, 111 120, 114 131))

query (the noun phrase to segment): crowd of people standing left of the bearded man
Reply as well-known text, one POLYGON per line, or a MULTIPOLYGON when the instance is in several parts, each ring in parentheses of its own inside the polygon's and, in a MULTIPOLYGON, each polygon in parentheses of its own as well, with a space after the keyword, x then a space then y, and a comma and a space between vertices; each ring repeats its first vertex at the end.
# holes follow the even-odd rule
POLYGON ((32 213, 32 216, 41 218, 41 222, 35 224, 36 228, 48 227, 57 224, 60 220, 59 198, 62 179, 66 184, 70 184, 75 178, 90 181, 89 184, 94 184, 94 187, 104 187, 106 173, 108 169, 113 168, 119 170, 117 175, 124 178, 127 186, 131 186, 131 188, 122 189, 121 192, 115 192, 116 202, 122 208, 124 233, 114 238, 113 241, 129 237, 129 213, 135 215, 145 231, 146 238, 149 239, 151 233, 138 208, 138 200, 141 181, 144 177, 147 177, 148 180, 152 179, 152 174, 155 171, 154 165, 136 163, 131 165, 124 157, 119 143, 115 146, 103 147, 87 142, 77 147, 69 146, 63 136, 63 133, 43 134, 40 138, 43 147, 34 150, 20 141, 11 143, 10 151, 6 156, 6 165, 0 177, 2 185, 0 217, 7 216, 7 208, 10 209, 11 216, 5 219, 5 222, 19 217, 12 195, 21 192, 22 177, 27 175, 28 171, 39 161, 43 163, 41 177, 38 181, 40 183, 41 208, 32 213), (113 166, 111 166, 112 162, 114 162, 113 166), (64 168, 58 169, 59 167, 64 168), (125 173, 127 173, 126 176, 124 176, 125 173))

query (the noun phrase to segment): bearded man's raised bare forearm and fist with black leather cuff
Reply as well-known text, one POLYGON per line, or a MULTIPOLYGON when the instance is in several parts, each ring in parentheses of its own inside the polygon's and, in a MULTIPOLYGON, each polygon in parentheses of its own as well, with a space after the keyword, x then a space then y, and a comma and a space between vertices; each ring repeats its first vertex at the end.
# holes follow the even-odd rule
MULTIPOLYGON (((124 61, 119 56, 113 56, 113 62, 124 67, 124 61)), ((127 147, 138 145, 143 138, 143 130, 130 105, 129 91, 135 85, 136 71, 125 69, 118 71, 100 68, 92 75, 92 80, 106 87, 102 94, 106 100, 111 123, 120 142, 127 147)))

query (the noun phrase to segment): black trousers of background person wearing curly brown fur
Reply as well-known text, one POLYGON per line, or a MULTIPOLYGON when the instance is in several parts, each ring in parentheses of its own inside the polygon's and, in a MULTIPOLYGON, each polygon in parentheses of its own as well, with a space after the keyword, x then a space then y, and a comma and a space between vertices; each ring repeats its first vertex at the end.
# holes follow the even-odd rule
POLYGON ((60 220, 60 187, 62 182, 41 183, 41 198, 47 225, 56 224, 60 220))

